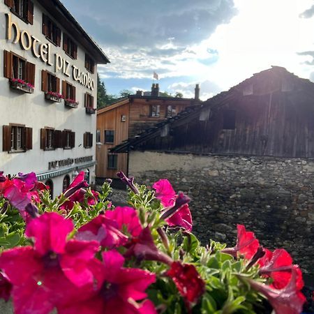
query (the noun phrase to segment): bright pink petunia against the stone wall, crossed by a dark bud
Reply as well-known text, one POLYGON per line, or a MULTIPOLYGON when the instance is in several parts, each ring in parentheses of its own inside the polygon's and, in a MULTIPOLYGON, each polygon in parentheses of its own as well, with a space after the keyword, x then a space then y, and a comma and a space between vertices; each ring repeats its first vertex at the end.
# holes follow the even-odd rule
POLYGON ((192 216, 188 208, 190 199, 186 197, 184 193, 177 195, 167 179, 160 179, 155 182, 153 188, 156 190, 156 198, 160 200, 164 207, 167 207, 167 209, 163 211, 163 216, 166 216, 165 221, 167 224, 170 226, 184 227, 191 232, 192 216))

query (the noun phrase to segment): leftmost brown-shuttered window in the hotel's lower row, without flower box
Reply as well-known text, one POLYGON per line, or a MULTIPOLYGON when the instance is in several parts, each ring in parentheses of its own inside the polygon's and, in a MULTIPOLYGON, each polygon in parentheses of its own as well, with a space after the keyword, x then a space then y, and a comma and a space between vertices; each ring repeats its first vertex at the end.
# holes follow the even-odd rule
POLYGON ((3 151, 22 152, 33 148, 33 129, 21 125, 3 126, 3 151))

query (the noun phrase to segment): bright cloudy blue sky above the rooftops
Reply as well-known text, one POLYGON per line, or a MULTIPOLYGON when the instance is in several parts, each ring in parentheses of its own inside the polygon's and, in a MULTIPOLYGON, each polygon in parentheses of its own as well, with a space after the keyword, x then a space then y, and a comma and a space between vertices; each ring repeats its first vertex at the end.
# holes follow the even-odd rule
POLYGON ((271 66, 314 82, 314 0, 61 1, 110 59, 107 94, 200 84, 206 100, 271 66))

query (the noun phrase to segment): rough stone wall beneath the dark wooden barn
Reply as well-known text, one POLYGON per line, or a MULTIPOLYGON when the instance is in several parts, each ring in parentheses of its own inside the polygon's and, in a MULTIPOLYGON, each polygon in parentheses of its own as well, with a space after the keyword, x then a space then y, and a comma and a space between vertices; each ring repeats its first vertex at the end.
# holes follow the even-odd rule
POLYGON ((191 198, 193 232, 233 246, 237 223, 266 248, 285 248, 314 269, 314 160, 130 153, 129 175, 151 186, 167 178, 191 198))

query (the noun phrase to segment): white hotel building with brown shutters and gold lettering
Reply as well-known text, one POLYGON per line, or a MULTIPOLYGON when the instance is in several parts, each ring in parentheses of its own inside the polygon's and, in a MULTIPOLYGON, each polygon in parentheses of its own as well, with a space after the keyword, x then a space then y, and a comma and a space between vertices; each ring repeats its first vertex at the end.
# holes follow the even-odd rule
POLYGON ((0 171, 95 180, 100 47, 59 0, 0 0, 0 171), (94 135, 94 136, 93 136, 94 135))

